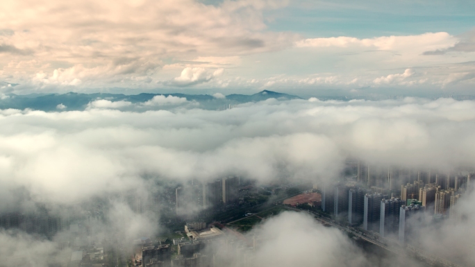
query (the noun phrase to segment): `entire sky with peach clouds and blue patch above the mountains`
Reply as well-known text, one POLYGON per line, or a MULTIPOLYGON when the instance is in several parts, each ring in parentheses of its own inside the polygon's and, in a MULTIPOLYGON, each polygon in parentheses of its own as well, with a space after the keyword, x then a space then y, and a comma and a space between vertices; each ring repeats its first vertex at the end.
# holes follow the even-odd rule
POLYGON ((474 5, 4 1, 0 90, 473 94, 474 5))

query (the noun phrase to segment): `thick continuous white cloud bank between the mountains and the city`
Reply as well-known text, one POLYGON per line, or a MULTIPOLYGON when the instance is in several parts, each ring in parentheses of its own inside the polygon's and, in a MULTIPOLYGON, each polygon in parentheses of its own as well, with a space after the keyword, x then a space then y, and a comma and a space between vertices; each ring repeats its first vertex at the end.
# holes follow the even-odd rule
POLYGON ((122 112, 130 104, 117 102, 2 112, 1 181, 66 201, 124 190, 142 173, 269 182, 332 179, 349 156, 441 171, 475 164, 472 101, 265 101, 226 112, 122 112))

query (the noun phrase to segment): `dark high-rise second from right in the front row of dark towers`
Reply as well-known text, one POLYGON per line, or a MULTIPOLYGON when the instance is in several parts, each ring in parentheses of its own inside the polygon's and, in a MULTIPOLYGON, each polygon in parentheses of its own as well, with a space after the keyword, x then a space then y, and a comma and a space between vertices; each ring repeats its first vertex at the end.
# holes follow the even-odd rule
POLYGON ((381 200, 381 215, 379 218, 379 234, 381 236, 397 233, 399 230, 399 208, 405 204, 405 201, 399 198, 381 200))

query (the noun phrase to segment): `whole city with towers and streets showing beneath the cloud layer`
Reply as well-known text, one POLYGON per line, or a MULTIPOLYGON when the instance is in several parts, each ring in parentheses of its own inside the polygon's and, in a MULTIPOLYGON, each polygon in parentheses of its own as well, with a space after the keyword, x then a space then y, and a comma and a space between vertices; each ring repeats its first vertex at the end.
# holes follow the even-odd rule
POLYGON ((67 266, 258 266, 255 253, 265 236, 256 229, 282 212, 303 212, 355 243, 372 243, 426 266, 463 266, 424 251, 417 232, 466 220, 458 201, 472 191, 471 175, 347 161, 340 180, 330 184, 263 185, 238 176, 157 184, 152 190, 160 193, 147 199, 123 195, 117 200, 133 211, 128 216, 156 218, 168 230, 126 242, 114 232, 104 236, 101 227, 110 208, 104 200, 76 207, 81 213, 67 216, 54 216, 44 206, 33 214, 1 214, 0 227, 49 239, 67 230, 72 235, 59 243, 60 250, 70 251, 63 258, 67 266))

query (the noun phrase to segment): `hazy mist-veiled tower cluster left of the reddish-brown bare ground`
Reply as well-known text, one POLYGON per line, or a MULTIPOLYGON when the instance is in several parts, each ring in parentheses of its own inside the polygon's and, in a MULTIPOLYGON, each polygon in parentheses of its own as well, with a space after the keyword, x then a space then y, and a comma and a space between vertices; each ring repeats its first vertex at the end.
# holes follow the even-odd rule
POLYGON ((175 189, 176 214, 233 205, 239 201, 239 187, 240 178, 235 176, 205 183, 191 181, 175 189))

